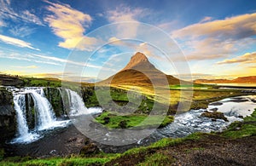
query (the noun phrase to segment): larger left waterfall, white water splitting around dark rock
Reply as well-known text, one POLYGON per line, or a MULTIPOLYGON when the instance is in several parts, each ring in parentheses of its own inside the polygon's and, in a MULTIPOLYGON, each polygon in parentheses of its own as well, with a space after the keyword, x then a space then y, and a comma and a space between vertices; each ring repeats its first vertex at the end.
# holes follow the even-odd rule
MULTIPOLYGON (((38 140, 42 135, 38 135, 40 130, 54 129, 55 127, 65 127, 69 120, 57 121, 55 113, 49 100, 44 95, 43 88, 12 89, 14 94, 15 111, 17 114, 18 133, 12 143, 30 143, 38 140), (26 122, 26 94, 32 96, 35 111, 36 126, 31 131, 26 122)), ((29 103, 28 103, 29 104, 29 103)))

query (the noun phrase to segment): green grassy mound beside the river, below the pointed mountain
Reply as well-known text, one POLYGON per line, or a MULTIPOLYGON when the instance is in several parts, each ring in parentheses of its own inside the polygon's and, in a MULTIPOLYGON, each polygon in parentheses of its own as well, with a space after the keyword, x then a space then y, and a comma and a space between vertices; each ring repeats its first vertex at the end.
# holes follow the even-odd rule
POLYGON ((126 129, 132 127, 154 127, 160 125, 160 127, 165 127, 167 124, 173 122, 172 116, 166 116, 164 120, 162 120, 162 116, 150 116, 146 114, 130 114, 130 115, 117 115, 113 112, 103 112, 99 117, 96 117, 96 122, 102 123, 106 127, 110 129, 126 129), (143 123, 146 119, 147 121, 143 123), (161 122, 161 123, 160 123, 161 122))

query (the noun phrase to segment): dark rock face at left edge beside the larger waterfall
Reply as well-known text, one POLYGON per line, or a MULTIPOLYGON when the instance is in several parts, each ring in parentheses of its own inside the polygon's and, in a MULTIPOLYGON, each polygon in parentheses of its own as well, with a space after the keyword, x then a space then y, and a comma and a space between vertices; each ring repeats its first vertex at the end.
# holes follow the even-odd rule
POLYGON ((0 146, 6 140, 15 137, 16 117, 13 95, 4 88, 0 88, 0 146))

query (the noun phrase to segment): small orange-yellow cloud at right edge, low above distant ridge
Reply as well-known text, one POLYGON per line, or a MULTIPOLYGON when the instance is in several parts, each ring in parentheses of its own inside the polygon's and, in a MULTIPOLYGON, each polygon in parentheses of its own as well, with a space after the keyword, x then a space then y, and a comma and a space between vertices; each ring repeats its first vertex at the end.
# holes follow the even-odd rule
POLYGON ((242 54, 241 56, 237 56, 236 58, 230 60, 219 61, 217 64, 233 64, 233 63, 244 63, 244 64, 256 64, 256 52, 242 54))

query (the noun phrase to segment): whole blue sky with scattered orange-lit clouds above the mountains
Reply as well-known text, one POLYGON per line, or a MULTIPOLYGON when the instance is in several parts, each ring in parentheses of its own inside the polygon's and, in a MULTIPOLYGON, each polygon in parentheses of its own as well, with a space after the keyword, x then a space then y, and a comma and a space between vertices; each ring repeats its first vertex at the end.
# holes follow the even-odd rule
POLYGON ((0 0, 0 73, 93 82, 137 51, 174 76, 256 75, 254 0, 0 0))

